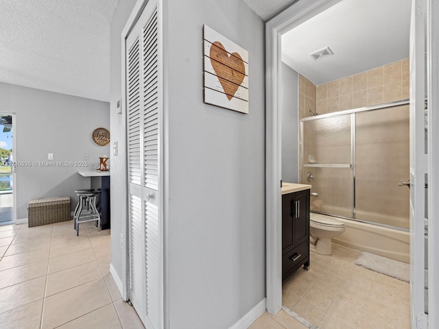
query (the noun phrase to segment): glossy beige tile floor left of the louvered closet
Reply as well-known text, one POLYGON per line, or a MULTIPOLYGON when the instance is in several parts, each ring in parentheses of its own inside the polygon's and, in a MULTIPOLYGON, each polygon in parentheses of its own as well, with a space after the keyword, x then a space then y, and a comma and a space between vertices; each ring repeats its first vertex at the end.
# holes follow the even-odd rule
POLYGON ((144 328, 110 275, 110 231, 0 226, 0 327, 144 328))

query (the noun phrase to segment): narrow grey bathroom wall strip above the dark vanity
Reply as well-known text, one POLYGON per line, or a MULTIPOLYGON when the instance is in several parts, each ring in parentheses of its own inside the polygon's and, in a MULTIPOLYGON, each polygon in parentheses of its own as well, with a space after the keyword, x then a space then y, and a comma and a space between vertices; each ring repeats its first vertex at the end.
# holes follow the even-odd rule
POLYGON ((282 180, 298 182, 298 73, 281 64, 282 180))

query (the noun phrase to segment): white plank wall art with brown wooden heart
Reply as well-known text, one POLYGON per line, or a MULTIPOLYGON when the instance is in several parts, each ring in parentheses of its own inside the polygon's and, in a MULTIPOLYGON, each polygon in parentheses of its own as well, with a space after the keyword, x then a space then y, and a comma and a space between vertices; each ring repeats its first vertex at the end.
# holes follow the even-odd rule
POLYGON ((204 102, 248 114, 248 51, 207 25, 204 102))

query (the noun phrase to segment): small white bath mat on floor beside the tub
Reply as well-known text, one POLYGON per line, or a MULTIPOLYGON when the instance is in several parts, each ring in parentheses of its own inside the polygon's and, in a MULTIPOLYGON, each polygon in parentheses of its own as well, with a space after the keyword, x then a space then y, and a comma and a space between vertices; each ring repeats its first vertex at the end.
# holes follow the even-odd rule
POLYGON ((398 260, 361 252, 357 260, 355 260, 355 265, 371 269, 386 276, 392 276, 392 278, 401 281, 410 282, 410 265, 398 260))

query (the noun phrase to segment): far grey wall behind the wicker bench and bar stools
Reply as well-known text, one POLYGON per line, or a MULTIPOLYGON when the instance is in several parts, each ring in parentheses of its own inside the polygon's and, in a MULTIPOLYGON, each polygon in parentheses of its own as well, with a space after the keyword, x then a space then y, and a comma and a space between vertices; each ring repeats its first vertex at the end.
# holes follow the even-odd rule
MULTIPOLYGON (((91 135, 97 127, 109 128, 108 108, 104 101, 0 83, 0 113, 16 114, 16 161, 50 162, 47 154, 53 153, 54 162, 75 162, 88 155, 85 168, 99 167, 99 156, 110 151, 108 145, 95 144, 91 135)), ((75 189, 90 186, 89 178, 76 173, 80 169, 84 167, 41 167, 39 163, 17 167, 17 219, 27 218, 29 200, 42 197, 69 196, 73 210, 75 189)))

